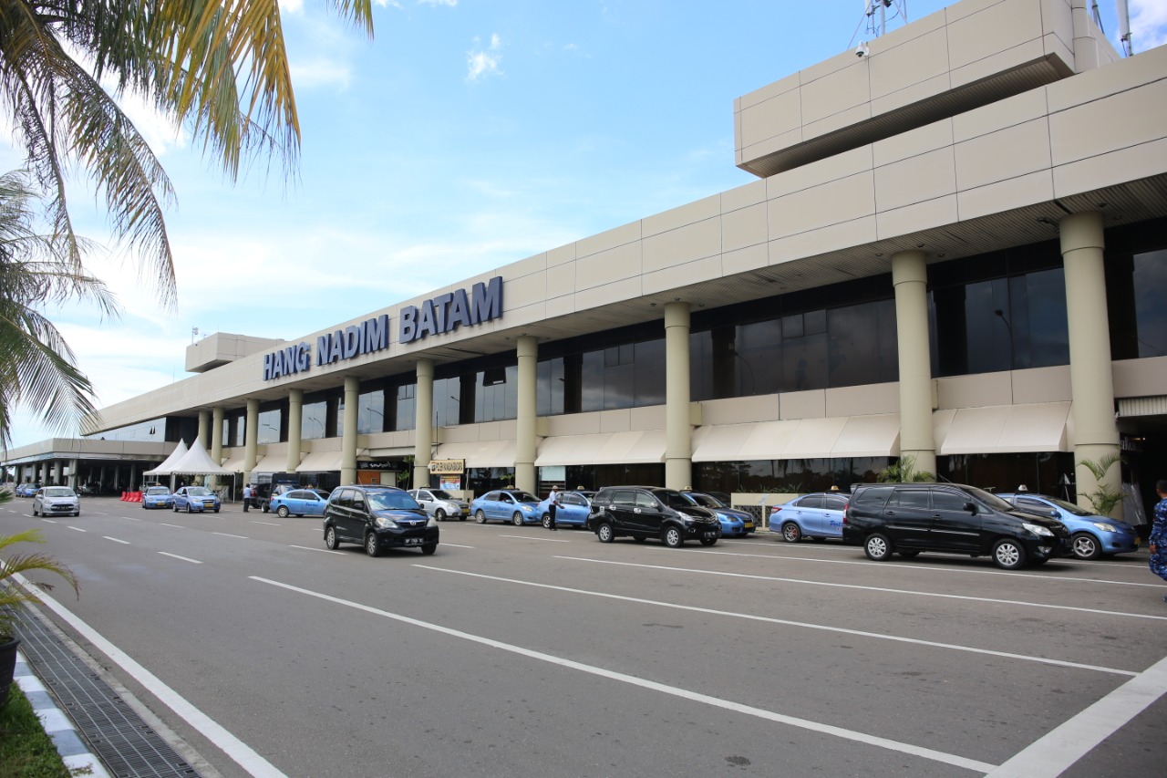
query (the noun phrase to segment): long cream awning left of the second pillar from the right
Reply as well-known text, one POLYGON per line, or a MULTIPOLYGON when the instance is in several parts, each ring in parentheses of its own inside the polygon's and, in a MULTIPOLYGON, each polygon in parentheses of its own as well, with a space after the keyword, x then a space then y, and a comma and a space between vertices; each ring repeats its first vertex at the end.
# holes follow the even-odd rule
POLYGON ((894 457, 899 452, 899 414, 724 424, 693 432, 693 461, 894 457))

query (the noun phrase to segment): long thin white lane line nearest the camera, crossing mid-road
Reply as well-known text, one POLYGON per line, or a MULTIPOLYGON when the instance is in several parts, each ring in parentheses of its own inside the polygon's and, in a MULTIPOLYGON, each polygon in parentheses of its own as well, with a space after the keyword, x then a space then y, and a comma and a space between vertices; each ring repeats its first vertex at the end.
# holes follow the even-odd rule
POLYGON ((393 619, 396 621, 401 621, 404 624, 412 624, 413 626, 421 627, 424 630, 433 630, 434 632, 440 632, 442 634, 448 634, 454 638, 460 638, 462 640, 469 640, 471 642, 477 642, 484 646, 490 646, 492 648, 498 648, 501 651, 508 651, 520 657, 527 657, 529 659, 536 659, 544 662, 550 662, 552 665, 559 665, 560 667, 566 667, 568 669, 580 671, 582 673, 589 673, 592 675, 599 675, 600 678, 607 678, 613 681, 620 681, 622 683, 629 683, 631 686, 638 686, 644 689, 651 689, 654 692, 659 692, 662 694, 669 694, 676 697, 682 697, 684 700, 691 700, 693 702, 701 702, 715 708, 721 708, 724 710, 733 710, 735 713, 745 714, 747 716, 755 716, 757 718, 764 718, 767 721, 777 722, 780 724, 788 724, 790 727, 797 727, 799 729, 806 729, 813 732, 820 732, 824 735, 832 735, 834 737, 840 737, 848 741, 854 741, 857 743, 865 743, 867 745, 874 745, 882 749, 888 749, 892 751, 899 751, 900 753, 910 753, 923 759, 931 759, 932 762, 941 762, 943 764, 951 764, 957 767, 964 767, 966 770, 976 770, 978 772, 987 772, 992 770, 995 765, 987 762, 979 762, 977 759, 969 759, 966 757, 957 756, 955 753, 944 753, 943 751, 934 751, 932 749, 927 749, 920 745, 913 745, 910 743, 901 743, 899 741, 888 739, 886 737, 878 737, 875 735, 867 735, 866 732, 858 732, 851 729, 843 729, 841 727, 833 727, 831 724, 823 724, 816 721, 810 721, 808 718, 798 718, 797 716, 788 716, 785 714, 775 713, 773 710, 766 710, 763 708, 755 708, 753 706, 746 706, 740 702, 733 702, 731 700, 722 700, 721 697, 714 697, 707 694, 700 694, 699 692, 691 692, 689 689, 683 689, 676 686, 668 686, 665 683, 658 683, 656 681, 649 681, 648 679, 637 678, 635 675, 628 675, 627 673, 617 673, 603 667, 595 667, 593 665, 585 665, 582 662, 576 662, 571 659, 564 659, 561 657, 554 657, 552 654, 545 654, 539 651, 532 651, 530 648, 523 648, 522 646, 516 646, 509 642, 502 642, 494 640, 491 638, 483 638, 481 635, 470 634, 469 632, 462 632, 460 630, 453 630, 450 627, 445 627, 439 624, 432 624, 429 621, 421 621, 419 619, 410 618, 408 616, 401 616, 399 613, 390 613, 389 611, 383 611, 378 607, 371 607, 369 605, 363 605, 361 603, 355 603, 349 599, 341 599, 340 597, 333 597, 331 595, 324 595, 322 592, 312 591, 310 589, 301 589, 300 586, 293 586, 292 584, 280 583, 279 581, 272 581, 271 578, 260 578, 259 576, 249 576, 252 581, 258 581, 260 583, 271 584, 272 586, 280 586, 287 589, 288 591, 299 592, 308 597, 316 597, 326 602, 336 603, 338 605, 347 605, 349 607, 356 609, 358 611, 365 611, 366 613, 372 613, 375 616, 382 616, 387 619, 393 619))

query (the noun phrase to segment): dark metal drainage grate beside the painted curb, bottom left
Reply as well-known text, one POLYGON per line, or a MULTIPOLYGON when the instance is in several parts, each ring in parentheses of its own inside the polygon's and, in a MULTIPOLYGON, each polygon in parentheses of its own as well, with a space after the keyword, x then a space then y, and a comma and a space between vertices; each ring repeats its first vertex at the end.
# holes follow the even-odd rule
POLYGON ((21 614, 20 639, 21 653, 112 774, 117 778, 198 776, 32 613, 21 614))

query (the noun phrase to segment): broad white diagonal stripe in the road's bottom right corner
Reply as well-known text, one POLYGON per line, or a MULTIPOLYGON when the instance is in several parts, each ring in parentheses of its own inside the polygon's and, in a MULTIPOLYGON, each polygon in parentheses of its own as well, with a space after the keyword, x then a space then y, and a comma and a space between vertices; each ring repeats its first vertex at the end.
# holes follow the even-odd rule
POLYGON ((1167 658, 1019 751, 988 774, 1054 778, 1167 693, 1167 658))

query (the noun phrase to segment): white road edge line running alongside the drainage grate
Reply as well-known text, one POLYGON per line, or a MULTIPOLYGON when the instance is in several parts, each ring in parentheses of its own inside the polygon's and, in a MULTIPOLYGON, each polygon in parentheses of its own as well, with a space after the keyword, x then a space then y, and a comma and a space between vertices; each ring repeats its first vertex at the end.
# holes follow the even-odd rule
MULTIPOLYGON (((163 551, 159 551, 159 554, 162 553, 163 551)), ((19 574, 16 575, 16 578, 20 579, 22 584, 27 585, 27 582, 23 581, 22 576, 19 574)), ((130 654, 106 640, 97 630, 85 624, 85 621, 82 621, 77 616, 74 616, 74 613, 65 609, 61 603, 40 591, 36 592, 36 596, 44 605, 64 619, 72 628, 84 635, 85 639, 96 646, 102 653, 109 657, 112 661, 117 662, 121 669, 146 687, 155 697, 161 700, 168 708, 170 708, 170 710, 176 713, 183 721, 198 730, 203 737, 218 746, 218 749, 233 759, 236 764, 246 770, 249 774, 258 776, 260 778, 287 778, 285 773, 277 770, 275 766, 267 759, 256 753, 250 745, 229 732, 202 710, 190 704, 186 697, 168 687, 159 680, 156 675, 134 661, 130 654)))

